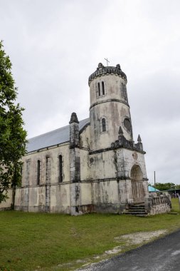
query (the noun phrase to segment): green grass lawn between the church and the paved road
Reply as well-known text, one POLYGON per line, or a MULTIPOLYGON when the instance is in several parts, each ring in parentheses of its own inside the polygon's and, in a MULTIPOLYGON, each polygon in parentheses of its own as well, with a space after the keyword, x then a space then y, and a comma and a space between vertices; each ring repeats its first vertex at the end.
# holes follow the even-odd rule
MULTIPOLYGON (((179 213, 178 199, 172 199, 172 212, 179 213)), ((0 271, 73 270, 58 265, 101 255, 117 246, 114 238, 120 235, 165 229, 171 232, 178 228, 180 215, 73 217, 0 212, 0 271)))

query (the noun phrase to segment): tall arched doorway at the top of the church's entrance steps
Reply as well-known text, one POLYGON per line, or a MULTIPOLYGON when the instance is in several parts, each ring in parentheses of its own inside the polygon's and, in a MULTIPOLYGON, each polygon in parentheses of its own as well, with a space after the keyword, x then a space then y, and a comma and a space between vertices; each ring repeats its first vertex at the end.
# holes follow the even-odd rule
POLYGON ((139 165, 133 165, 131 169, 132 198, 134 203, 144 202, 145 190, 142 170, 139 165))

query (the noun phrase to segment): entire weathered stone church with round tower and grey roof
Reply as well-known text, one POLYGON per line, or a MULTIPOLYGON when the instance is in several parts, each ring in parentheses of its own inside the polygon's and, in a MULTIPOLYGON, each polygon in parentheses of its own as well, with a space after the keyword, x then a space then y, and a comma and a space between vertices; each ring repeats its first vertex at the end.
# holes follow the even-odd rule
POLYGON ((90 118, 73 113, 69 126, 29 140, 16 210, 122 213, 144 203, 145 152, 133 140, 126 85, 119 64, 100 63, 89 78, 90 118))

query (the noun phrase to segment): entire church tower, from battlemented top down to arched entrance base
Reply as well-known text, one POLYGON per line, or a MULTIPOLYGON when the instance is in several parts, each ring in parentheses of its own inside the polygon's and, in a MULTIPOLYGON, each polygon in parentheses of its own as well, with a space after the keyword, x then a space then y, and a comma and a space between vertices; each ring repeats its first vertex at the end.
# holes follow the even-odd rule
POLYGON ((134 143, 127 98, 127 76, 99 63, 89 77, 90 180, 97 210, 120 212, 148 195, 142 140, 134 143))

